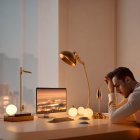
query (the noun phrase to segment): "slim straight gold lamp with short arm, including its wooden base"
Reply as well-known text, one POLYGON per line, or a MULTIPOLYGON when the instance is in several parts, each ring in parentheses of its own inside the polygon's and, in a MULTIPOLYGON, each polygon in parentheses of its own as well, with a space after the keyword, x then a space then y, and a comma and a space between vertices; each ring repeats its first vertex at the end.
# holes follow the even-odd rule
POLYGON ((18 121, 34 120, 34 116, 32 116, 31 113, 23 113, 23 110, 24 110, 24 105, 22 105, 22 74, 23 72, 31 73, 30 71, 23 70, 23 68, 20 67, 20 113, 4 116, 4 121, 18 122, 18 121))

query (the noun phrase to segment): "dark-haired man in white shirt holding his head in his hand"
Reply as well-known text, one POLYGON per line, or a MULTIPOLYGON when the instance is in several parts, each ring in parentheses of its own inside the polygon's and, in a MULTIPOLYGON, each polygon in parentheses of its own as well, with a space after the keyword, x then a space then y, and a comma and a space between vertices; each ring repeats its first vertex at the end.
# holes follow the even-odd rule
POLYGON ((107 74, 105 82, 110 92, 108 97, 111 122, 120 123, 134 115, 135 120, 140 123, 140 83, 135 80, 133 73, 126 67, 119 67, 107 74), (128 99, 120 107, 117 107, 115 92, 128 99))

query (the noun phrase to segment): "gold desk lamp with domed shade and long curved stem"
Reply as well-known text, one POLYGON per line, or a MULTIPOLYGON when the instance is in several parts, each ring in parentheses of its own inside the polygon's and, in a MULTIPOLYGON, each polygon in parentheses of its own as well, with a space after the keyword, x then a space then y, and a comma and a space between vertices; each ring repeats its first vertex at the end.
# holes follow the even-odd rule
POLYGON ((71 66, 75 66, 77 64, 77 61, 83 65, 86 79, 87 79, 87 84, 88 84, 88 103, 87 103, 86 107, 91 108, 91 106, 90 106, 90 86, 89 86, 89 80, 88 80, 88 76, 87 76, 87 72, 86 72, 85 63, 83 61, 81 61, 81 59, 79 58, 79 56, 76 52, 72 53, 69 51, 62 51, 59 53, 59 56, 65 63, 67 63, 71 66))

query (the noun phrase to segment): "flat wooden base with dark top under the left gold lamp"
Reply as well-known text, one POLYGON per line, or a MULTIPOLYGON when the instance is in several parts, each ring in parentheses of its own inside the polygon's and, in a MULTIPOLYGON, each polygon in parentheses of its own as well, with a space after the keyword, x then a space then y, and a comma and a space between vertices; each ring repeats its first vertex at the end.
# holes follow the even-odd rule
POLYGON ((15 114, 14 116, 4 116, 4 121, 8 122, 20 122, 34 120, 34 116, 31 113, 15 114))

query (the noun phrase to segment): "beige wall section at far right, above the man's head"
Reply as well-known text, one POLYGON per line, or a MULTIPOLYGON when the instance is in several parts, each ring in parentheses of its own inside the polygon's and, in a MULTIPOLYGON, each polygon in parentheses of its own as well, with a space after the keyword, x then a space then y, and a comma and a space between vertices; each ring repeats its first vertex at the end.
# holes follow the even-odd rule
POLYGON ((140 0, 117 1, 117 66, 129 67, 140 81, 140 0))

